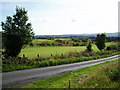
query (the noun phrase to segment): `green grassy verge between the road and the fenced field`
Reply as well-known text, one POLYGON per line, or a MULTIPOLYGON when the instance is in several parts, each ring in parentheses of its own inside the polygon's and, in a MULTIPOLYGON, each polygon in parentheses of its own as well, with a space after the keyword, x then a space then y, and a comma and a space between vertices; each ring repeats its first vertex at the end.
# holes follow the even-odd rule
MULTIPOLYGON (((79 56, 79 57, 71 57, 66 59, 50 59, 50 60, 43 60, 43 61, 34 61, 34 60, 27 60, 27 59, 11 59, 11 60, 5 60, 6 64, 3 64, 2 71, 3 72, 10 72, 10 71, 16 71, 16 70, 24 70, 24 69, 31 69, 31 68, 40 68, 40 67, 47 67, 47 66, 55 66, 55 65, 62 65, 62 64, 70 64, 70 63, 76 63, 76 62, 82 62, 82 61, 88 61, 88 60, 95 60, 105 57, 110 57, 116 54, 120 54, 120 52, 100 52, 100 53, 85 53, 85 56, 79 56)), ((4 61, 3 61, 4 63, 4 61)))

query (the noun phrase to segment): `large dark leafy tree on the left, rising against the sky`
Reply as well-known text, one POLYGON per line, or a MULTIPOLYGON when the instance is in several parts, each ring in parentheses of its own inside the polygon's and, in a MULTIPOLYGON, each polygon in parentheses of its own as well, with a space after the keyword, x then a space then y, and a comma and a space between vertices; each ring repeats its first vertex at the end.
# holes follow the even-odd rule
POLYGON ((6 21, 1 22, 6 57, 16 57, 22 46, 32 41, 34 32, 31 23, 27 21, 28 15, 25 8, 16 6, 15 15, 7 16, 6 21))

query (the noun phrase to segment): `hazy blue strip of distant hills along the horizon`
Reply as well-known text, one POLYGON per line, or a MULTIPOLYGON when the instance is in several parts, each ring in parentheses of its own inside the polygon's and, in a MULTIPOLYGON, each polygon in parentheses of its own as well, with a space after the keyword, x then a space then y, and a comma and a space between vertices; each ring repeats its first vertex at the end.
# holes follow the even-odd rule
MULTIPOLYGON (((98 33, 93 34, 63 34, 63 35, 35 35, 35 38, 89 38, 96 37, 98 33)), ((120 37, 120 32, 116 33, 105 33, 107 37, 120 37)))

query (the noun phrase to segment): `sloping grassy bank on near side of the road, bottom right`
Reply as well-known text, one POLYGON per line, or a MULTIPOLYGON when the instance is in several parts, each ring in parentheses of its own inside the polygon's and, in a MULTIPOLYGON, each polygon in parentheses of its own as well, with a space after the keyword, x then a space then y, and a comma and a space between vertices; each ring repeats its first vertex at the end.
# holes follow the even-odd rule
POLYGON ((22 88, 120 88, 120 59, 86 67, 64 75, 35 81, 22 88))

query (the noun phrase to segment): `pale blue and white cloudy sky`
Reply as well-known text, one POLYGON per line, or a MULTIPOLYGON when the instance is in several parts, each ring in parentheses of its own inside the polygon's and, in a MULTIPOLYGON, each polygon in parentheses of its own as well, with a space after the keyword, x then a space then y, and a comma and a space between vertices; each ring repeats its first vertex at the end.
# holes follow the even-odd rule
MULTIPOLYGON (((119 0, 1 0, 0 22, 28 11, 35 35, 118 32, 119 0)), ((0 26, 0 31, 2 30, 0 26)))

